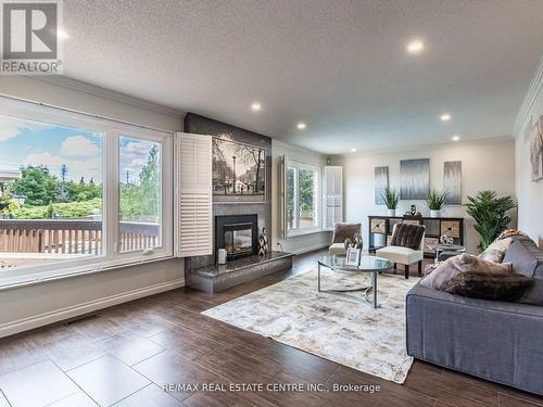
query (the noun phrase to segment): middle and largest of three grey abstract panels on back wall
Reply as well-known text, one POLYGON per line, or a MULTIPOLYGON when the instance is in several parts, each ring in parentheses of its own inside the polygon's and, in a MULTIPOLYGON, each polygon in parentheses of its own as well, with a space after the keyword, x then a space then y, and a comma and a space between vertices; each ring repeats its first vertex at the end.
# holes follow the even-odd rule
POLYGON ((430 189, 430 158, 400 161, 400 199, 426 200, 430 189))

